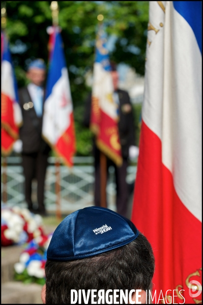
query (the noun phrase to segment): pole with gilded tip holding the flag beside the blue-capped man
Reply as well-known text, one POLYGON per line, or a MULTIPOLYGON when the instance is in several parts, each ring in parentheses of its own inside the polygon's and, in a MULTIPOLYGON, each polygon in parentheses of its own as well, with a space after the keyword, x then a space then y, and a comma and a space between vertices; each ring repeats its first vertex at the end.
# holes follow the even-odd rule
MULTIPOLYGON (((52 23, 53 26, 59 25, 59 7, 57 1, 52 1, 50 5, 50 9, 52 11, 52 23)), ((61 212, 61 184, 60 184, 60 159, 59 157, 55 157, 55 194, 56 194, 56 210, 55 216, 56 219, 62 219, 61 212)))

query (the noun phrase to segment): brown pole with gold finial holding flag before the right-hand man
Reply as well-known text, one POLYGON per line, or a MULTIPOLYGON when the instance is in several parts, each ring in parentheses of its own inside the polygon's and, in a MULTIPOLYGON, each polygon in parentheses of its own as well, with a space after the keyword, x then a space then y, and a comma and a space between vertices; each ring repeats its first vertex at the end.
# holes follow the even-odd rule
MULTIPOLYGON (((103 15, 98 15, 99 27, 101 28, 103 15)), ((107 182, 107 158, 106 155, 100 151, 100 206, 106 208, 106 182, 107 182)))

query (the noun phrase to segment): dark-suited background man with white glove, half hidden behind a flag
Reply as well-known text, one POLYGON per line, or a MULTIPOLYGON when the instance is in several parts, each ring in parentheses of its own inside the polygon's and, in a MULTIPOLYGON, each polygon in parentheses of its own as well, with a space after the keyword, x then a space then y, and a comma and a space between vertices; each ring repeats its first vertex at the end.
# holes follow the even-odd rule
MULTIPOLYGON (((115 183, 117 185, 117 212, 123 216, 127 216, 129 188, 126 182, 128 158, 135 157, 135 128, 133 119, 133 109, 128 93, 118 88, 119 74, 114 63, 111 63, 111 76, 113 80, 114 101, 118 104, 119 109, 119 135, 122 147, 123 164, 121 167, 107 158, 107 168, 112 165, 115 169, 115 183), (130 155, 129 155, 130 154, 130 155)), ((83 124, 86 127, 90 126, 91 117, 91 98, 92 94, 86 99, 86 107, 83 124)), ((100 151, 96 147, 95 140, 93 145, 95 157, 95 205, 100 206, 100 151)))

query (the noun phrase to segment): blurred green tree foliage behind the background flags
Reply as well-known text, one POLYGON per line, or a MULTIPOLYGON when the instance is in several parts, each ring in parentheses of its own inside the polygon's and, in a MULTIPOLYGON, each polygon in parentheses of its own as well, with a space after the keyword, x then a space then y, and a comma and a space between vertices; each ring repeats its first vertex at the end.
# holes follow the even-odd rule
MULTIPOLYGON (((50 1, 7 1, 7 28, 18 86, 26 84, 27 65, 35 58, 48 61, 48 34, 52 24, 50 1)), ((91 132, 82 126, 84 100, 91 90, 85 73, 93 68, 97 16, 104 16, 106 32, 117 41, 110 57, 144 74, 149 2, 60 1, 59 25, 74 104, 77 154, 91 153, 91 132)), ((136 116, 137 117, 137 116, 136 116)), ((136 120, 135 124, 138 122, 136 120)))

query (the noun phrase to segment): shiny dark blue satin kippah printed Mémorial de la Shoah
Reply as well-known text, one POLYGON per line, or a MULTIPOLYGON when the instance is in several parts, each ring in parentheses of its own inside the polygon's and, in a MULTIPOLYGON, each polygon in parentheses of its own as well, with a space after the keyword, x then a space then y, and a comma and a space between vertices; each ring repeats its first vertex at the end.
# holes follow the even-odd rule
POLYGON ((88 207, 68 215, 55 229, 47 259, 73 261, 95 256, 130 243, 139 231, 109 209, 88 207))

